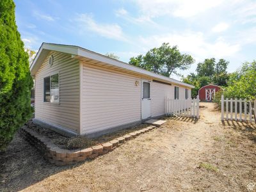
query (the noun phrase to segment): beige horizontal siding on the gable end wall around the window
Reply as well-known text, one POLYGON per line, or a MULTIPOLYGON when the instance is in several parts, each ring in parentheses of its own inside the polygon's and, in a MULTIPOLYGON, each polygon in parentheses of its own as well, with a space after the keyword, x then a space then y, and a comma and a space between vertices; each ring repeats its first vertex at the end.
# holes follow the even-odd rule
POLYGON ((35 118, 79 132, 79 61, 51 52, 35 75, 35 118), (49 56, 54 61, 49 67, 49 56), (60 104, 44 102, 44 77, 60 74, 60 104))

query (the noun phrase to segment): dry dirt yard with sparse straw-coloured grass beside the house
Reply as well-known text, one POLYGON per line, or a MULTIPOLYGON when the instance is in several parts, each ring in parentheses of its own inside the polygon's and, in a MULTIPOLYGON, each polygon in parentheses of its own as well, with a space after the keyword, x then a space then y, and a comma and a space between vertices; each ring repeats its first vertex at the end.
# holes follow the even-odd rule
POLYGON ((49 164, 17 134, 0 155, 0 191, 256 191, 256 125, 200 105, 198 121, 167 118, 75 166, 49 164))

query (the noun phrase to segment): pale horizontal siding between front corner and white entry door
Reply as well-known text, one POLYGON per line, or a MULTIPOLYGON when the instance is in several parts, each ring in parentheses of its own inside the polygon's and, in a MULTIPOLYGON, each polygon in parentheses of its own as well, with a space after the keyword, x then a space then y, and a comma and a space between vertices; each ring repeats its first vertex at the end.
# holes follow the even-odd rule
POLYGON ((141 86, 135 81, 140 79, 83 63, 81 133, 140 121, 141 86))

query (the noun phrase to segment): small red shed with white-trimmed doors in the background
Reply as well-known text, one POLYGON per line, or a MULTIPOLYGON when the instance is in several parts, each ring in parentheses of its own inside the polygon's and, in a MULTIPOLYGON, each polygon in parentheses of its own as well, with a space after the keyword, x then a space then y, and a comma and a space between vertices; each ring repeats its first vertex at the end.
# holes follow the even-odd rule
POLYGON ((198 90, 198 95, 200 100, 212 100, 215 97, 215 93, 220 91, 221 87, 215 84, 207 84, 202 86, 198 90))

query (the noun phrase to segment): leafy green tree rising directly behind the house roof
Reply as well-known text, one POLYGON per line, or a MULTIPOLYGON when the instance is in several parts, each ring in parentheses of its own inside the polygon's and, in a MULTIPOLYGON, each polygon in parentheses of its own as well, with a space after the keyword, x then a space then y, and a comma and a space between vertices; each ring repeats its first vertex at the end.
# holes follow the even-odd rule
POLYGON ((181 54, 177 46, 170 47, 163 43, 161 47, 150 49, 150 51, 129 61, 131 65, 151 70, 157 74, 170 77, 171 74, 178 74, 178 70, 186 70, 195 61, 188 54, 181 54))

